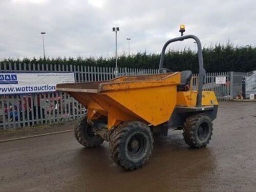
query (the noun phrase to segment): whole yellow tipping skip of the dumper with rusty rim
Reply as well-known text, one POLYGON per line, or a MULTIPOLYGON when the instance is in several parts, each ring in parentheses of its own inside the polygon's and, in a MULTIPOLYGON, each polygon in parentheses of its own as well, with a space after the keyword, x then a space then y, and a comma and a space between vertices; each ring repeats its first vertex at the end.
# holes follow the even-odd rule
POLYGON ((137 120, 165 123, 176 106, 180 73, 118 77, 111 81, 58 84, 88 108, 88 121, 108 117, 108 129, 137 120))

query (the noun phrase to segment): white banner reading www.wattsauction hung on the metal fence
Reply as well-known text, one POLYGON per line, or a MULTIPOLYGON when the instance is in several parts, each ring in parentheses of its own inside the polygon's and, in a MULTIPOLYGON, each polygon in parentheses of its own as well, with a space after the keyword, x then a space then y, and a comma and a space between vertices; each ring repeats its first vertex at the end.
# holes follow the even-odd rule
POLYGON ((0 94, 53 92, 58 83, 74 82, 74 73, 0 73, 0 94))

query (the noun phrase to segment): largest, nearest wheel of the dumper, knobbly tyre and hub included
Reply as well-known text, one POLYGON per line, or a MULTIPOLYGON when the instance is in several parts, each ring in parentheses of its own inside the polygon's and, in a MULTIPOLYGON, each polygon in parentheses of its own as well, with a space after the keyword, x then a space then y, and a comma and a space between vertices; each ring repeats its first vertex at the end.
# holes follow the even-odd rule
POLYGON ((150 127, 142 122, 126 122, 113 130, 111 157, 126 170, 137 170, 151 156, 154 139, 150 127))

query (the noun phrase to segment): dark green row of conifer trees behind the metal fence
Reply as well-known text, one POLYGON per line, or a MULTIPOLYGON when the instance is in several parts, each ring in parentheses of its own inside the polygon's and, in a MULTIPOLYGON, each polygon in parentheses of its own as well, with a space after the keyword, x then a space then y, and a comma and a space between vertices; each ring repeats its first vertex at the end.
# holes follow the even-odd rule
MULTIPOLYGON (((256 47, 251 45, 233 46, 232 43, 216 44, 203 48, 204 67, 207 72, 241 71, 249 72, 256 69, 256 47)), ((160 54, 137 53, 131 56, 120 55, 118 67, 158 68, 160 54)), ((4 59, 0 61, 12 64, 67 64, 115 67, 115 57, 89 58, 33 58, 33 59, 4 59)), ((164 67, 173 71, 191 70, 198 73, 198 57, 195 51, 183 49, 168 50, 165 53, 164 67)))

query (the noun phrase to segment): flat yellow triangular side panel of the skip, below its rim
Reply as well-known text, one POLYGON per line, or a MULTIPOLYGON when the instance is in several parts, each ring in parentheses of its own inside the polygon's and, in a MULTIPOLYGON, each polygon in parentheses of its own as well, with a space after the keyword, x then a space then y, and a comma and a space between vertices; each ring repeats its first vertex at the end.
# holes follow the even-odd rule
POLYGON ((105 93, 130 114, 136 114, 148 124, 157 126, 167 122, 176 106, 176 85, 160 86, 105 93))

